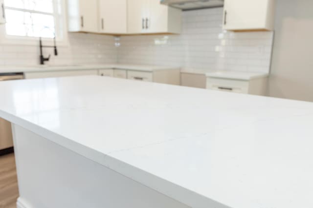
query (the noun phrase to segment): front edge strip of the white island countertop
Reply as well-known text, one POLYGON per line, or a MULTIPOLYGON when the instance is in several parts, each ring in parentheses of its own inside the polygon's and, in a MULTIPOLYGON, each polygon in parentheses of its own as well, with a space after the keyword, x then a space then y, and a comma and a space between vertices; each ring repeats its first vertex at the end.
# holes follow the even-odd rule
POLYGON ((2 110, 0 110, 0 117, 192 208, 230 208, 222 203, 202 196, 199 193, 180 187, 179 185, 159 178, 152 173, 148 173, 142 169, 120 161, 111 156, 111 153, 105 154, 90 147, 83 146, 68 139, 67 137, 35 125, 24 119, 18 118, 2 110))

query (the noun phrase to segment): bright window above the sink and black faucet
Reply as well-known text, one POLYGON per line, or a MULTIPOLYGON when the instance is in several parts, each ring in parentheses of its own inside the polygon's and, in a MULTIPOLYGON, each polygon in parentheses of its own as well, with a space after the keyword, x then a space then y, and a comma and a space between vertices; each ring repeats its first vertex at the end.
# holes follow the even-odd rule
POLYGON ((7 35, 62 39, 61 0, 4 0, 7 35))

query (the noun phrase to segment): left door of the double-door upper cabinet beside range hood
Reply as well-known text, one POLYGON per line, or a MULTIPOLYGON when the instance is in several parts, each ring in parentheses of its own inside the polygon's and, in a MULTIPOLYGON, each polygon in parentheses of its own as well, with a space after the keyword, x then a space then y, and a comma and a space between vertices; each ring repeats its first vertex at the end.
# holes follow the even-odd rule
POLYGON ((149 8, 147 0, 128 0, 127 21, 129 33, 144 33, 146 31, 146 19, 149 8))

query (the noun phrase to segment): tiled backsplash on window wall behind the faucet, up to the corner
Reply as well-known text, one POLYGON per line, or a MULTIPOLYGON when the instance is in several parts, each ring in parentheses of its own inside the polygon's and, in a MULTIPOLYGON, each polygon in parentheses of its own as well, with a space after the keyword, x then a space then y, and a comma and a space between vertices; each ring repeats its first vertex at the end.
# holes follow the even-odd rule
MULTIPOLYGON (((51 54, 47 64, 112 63, 117 57, 114 43, 112 36, 69 33, 68 44, 58 46, 58 56, 53 48, 45 48, 44 56, 51 54)), ((0 66, 36 65, 39 55, 39 39, 36 45, 0 44, 0 66)))

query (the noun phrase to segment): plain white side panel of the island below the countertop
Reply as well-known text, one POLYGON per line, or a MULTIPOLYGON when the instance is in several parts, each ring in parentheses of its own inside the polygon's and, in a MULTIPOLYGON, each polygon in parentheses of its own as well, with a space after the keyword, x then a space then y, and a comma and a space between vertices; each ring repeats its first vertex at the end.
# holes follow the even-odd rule
POLYGON ((12 129, 18 208, 188 208, 19 125, 12 129))

